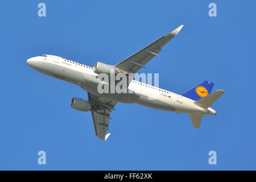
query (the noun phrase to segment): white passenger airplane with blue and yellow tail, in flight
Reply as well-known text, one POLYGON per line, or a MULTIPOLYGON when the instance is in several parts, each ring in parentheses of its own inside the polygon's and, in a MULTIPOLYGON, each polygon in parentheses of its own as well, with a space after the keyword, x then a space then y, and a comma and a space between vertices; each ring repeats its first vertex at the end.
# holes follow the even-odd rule
POLYGON ((192 126, 199 129, 203 115, 216 115, 216 111, 210 105, 225 93, 224 90, 211 93, 213 82, 203 81, 184 94, 176 94, 144 84, 134 78, 125 88, 133 91, 131 93, 99 93, 97 87, 102 81, 98 78, 101 73, 109 76, 114 70, 113 73, 122 73, 127 76, 134 75, 141 68, 146 68, 146 63, 153 57, 159 56, 163 46, 174 38, 181 28, 183 25, 115 65, 96 62, 94 67, 89 67, 54 55, 31 57, 27 60, 27 64, 40 73, 71 82, 88 92, 88 100, 73 97, 71 107, 79 111, 91 111, 96 136, 102 140, 108 139, 110 135, 110 133, 106 134, 109 130, 109 120, 112 119, 110 113, 115 110, 114 106, 118 102, 139 104, 176 113, 188 113, 192 126), (149 99, 151 97, 154 99, 149 99))

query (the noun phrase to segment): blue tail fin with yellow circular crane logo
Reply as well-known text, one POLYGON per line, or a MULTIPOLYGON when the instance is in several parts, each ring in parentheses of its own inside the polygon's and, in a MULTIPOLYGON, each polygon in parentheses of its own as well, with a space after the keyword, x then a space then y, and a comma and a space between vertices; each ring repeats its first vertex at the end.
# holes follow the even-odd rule
POLYGON ((203 81, 199 85, 195 86, 188 92, 182 94, 184 97, 191 98, 192 100, 196 101, 200 98, 208 96, 210 92, 212 92, 213 82, 210 81, 203 81))

